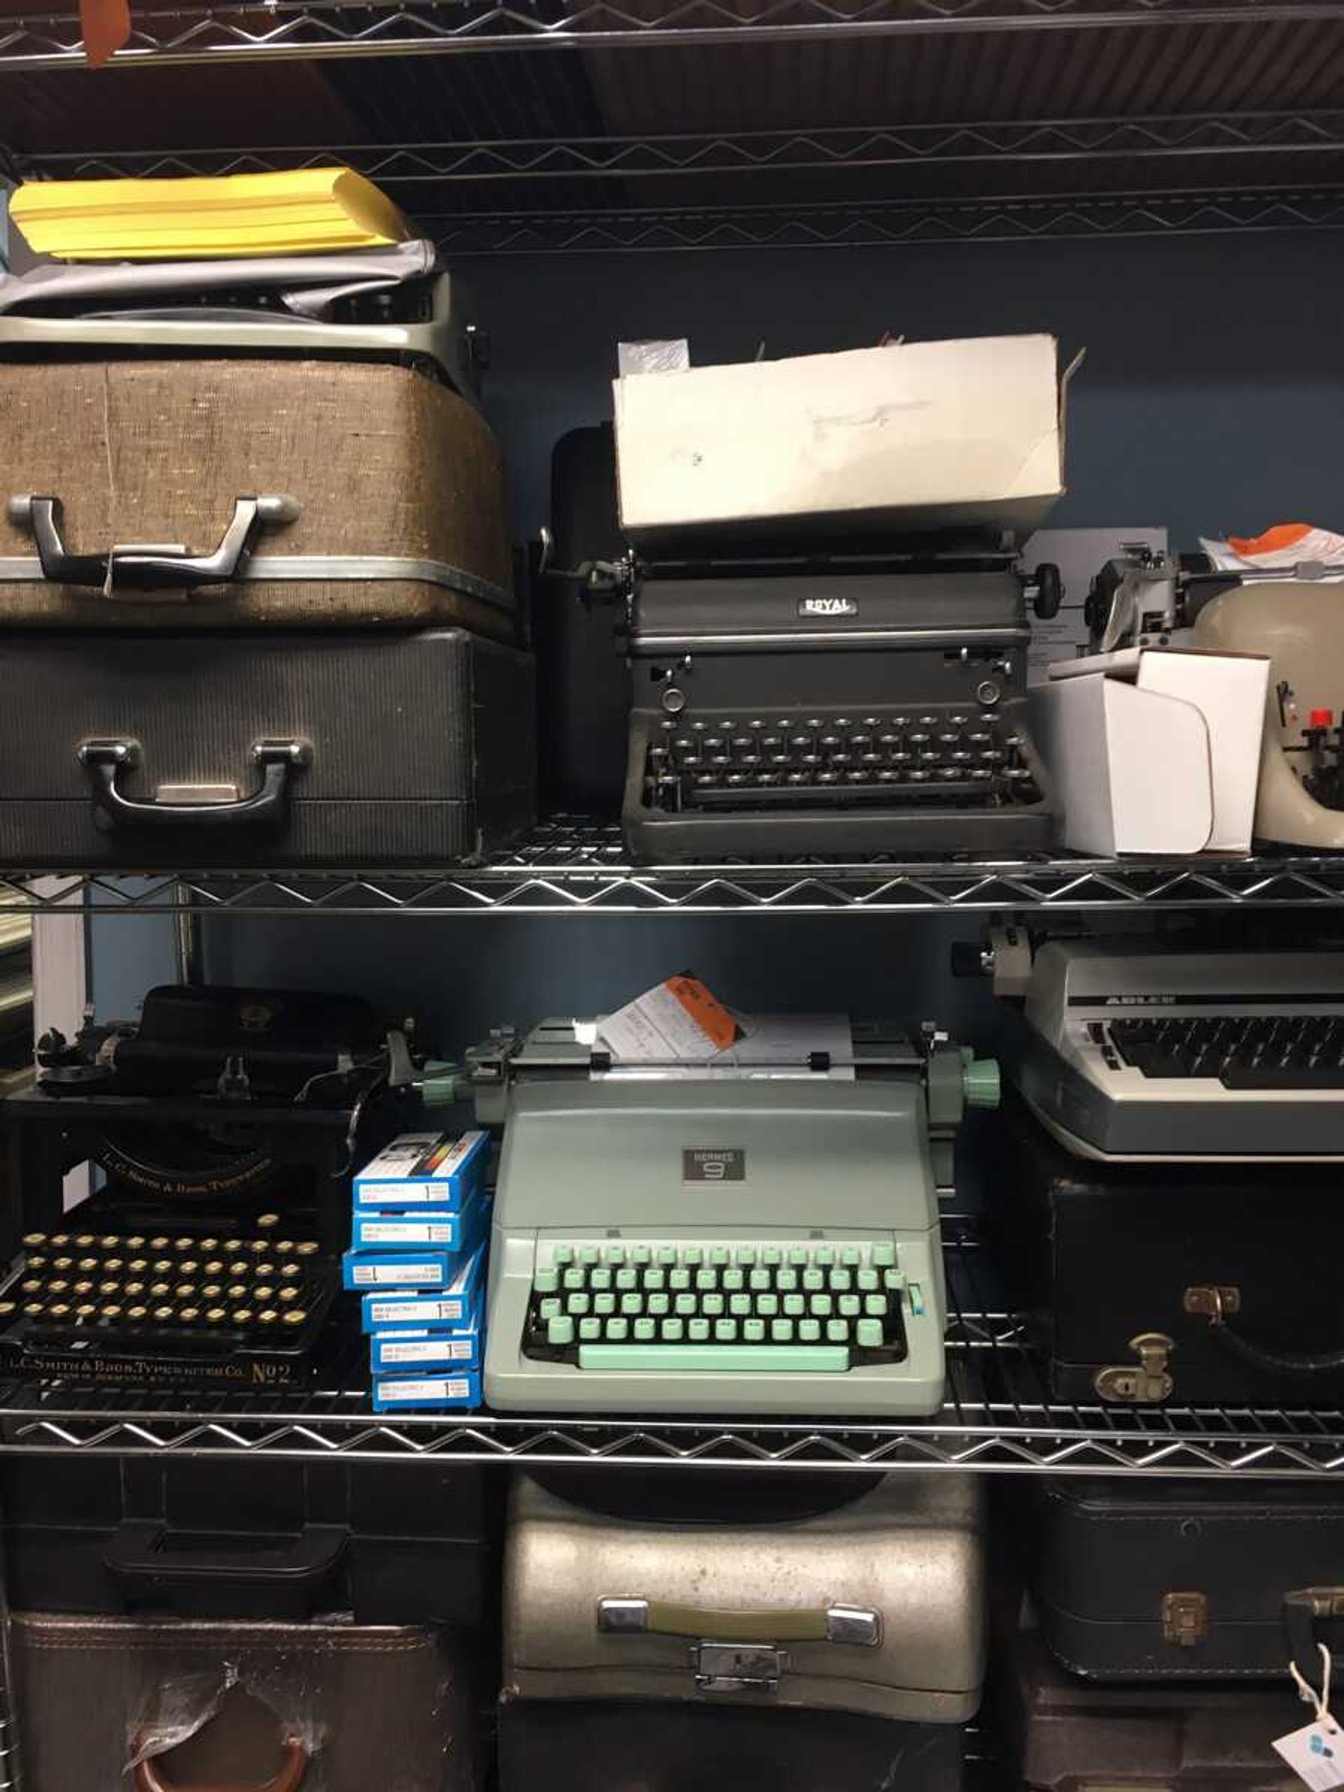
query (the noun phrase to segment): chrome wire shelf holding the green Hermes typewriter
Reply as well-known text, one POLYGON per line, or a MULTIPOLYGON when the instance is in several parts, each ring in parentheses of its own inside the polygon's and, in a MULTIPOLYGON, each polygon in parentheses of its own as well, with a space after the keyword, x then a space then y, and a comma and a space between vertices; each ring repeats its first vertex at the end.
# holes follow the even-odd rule
POLYGON ((0 1455, 358 1457, 710 1469, 1319 1478, 1344 1471, 1344 1412, 1054 1401, 973 1224, 946 1220, 948 1398, 932 1419, 375 1416, 362 1385, 305 1394, 0 1387, 0 1455))

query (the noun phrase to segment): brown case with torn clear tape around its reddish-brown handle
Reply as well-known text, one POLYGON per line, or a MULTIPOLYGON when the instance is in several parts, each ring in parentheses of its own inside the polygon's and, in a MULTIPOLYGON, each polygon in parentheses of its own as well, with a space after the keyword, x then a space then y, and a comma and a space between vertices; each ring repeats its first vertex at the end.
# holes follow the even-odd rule
POLYGON ((25 1792, 471 1792, 452 1633, 16 1613, 25 1792))

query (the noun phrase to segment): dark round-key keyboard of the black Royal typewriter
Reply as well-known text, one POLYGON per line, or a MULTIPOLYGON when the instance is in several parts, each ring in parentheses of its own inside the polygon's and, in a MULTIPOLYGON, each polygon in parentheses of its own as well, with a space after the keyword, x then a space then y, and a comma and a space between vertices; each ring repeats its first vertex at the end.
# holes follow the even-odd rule
POLYGON ((661 719, 649 735, 643 796, 650 808, 674 814, 1002 808, 1041 799, 1020 728, 993 711, 953 706, 661 719))

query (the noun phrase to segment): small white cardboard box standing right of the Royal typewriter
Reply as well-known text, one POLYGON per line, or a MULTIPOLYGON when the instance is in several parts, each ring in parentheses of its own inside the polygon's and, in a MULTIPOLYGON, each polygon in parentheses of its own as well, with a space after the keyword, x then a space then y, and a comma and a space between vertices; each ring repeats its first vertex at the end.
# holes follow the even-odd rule
POLYGON ((1038 745, 1082 853, 1247 853, 1269 659, 1133 649, 1068 659, 1030 694, 1038 745))

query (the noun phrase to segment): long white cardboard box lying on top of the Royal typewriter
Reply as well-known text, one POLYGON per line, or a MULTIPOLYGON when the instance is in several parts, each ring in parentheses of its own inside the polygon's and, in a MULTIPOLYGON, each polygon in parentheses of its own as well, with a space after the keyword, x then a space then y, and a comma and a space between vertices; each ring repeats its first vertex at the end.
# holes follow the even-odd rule
POLYGON ((647 545, 801 529, 1038 529, 1064 489, 1048 335, 891 342, 615 382, 620 520, 647 545))

